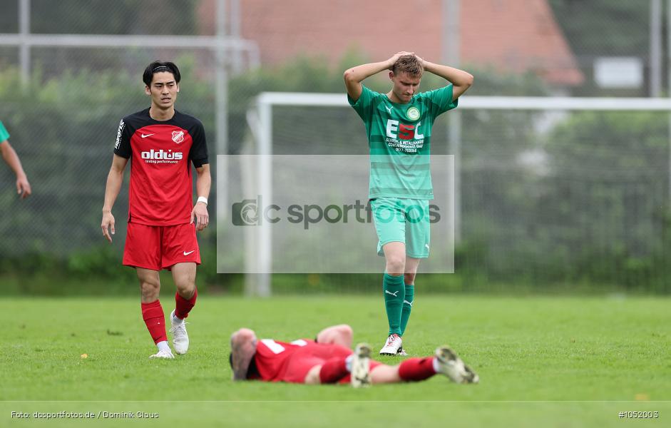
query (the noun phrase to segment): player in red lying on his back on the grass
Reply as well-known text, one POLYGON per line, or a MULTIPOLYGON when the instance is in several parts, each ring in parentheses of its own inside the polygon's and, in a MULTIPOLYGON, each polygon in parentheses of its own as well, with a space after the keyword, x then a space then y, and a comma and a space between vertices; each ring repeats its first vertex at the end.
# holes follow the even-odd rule
POLYGON ((399 365, 370 359, 371 348, 360 343, 352 351, 352 327, 327 327, 315 340, 293 342, 258 340, 253 330, 241 328, 230 339, 229 362, 233 380, 264 380, 304 384, 369 384, 417 382, 441 373, 456 383, 477 383, 478 375, 447 346, 434 357, 408 358, 399 365))

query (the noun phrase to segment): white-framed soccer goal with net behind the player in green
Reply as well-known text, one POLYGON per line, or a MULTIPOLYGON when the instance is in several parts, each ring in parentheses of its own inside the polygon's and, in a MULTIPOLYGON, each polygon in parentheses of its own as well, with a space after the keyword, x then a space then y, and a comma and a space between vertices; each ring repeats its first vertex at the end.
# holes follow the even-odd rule
MULTIPOLYGON (((608 280, 660 257, 670 111, 665 99, 463 97, 433 126, 419 272, 608 280)), ((230 201, 217 272, 250 274, 259 295, 278 273, 382 272, 366 133, 344 94, 262 93, 247 123, 245 151, 217 162, 230 201)))

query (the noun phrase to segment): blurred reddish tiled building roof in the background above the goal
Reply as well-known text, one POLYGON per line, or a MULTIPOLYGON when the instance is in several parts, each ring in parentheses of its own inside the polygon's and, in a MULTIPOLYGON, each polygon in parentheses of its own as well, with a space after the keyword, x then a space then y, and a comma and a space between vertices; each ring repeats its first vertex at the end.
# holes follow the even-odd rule
MULTIPOLYGON (((242 37, 256 41, 262 63, 298 54, 336 63, 358 48, 382 61, 414 51, 441 61, 442 0, 240 0, 242 37)), ((583 82, 548 0, 462 0, 461 63, 501 71, 533 71, 557 86, 583 82)), ((214 28, 213 0, 200 9, 203 31, 214 28)), ((449 64, 448 64, 449 65, 449 64)))

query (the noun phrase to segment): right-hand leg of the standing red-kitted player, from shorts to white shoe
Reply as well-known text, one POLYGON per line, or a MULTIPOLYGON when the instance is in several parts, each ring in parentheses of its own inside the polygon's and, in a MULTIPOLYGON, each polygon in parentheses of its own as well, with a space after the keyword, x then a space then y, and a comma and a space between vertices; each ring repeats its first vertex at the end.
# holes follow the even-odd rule
POLYGON ((189 316, 198 297, 195 271, 195 263, 177 263, 172 267, 177 292, 175 292, 175 310, 170 313, 170 333, 173 335, 175 352, 179 355, 186 354, 189 349, 189 336, 184 319, 189 316))

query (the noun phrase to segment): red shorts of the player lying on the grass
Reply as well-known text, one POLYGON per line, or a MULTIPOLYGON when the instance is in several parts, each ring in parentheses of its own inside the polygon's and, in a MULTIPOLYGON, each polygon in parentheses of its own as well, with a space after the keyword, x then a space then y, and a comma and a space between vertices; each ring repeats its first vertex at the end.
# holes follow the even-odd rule
MULTIPOLYGON (((324 362, 327 362, 327 360, 330 360, 333 357, 344 358, 348 355, 352 355, 352 353, 352 350, 344 346, 311 343, 294 352, 290 357, 287 370, 280 380, 283 382, 303 383, 307 376, 307 372, 309 372, 312 367, 323 365, 324 362)), ((371 360, 371 370, 380 364, 381 362, 371 360)), ((349 383, 349 381, 350 375, 347 374, 347 376, 340 379, 339 383, 349 383)))

